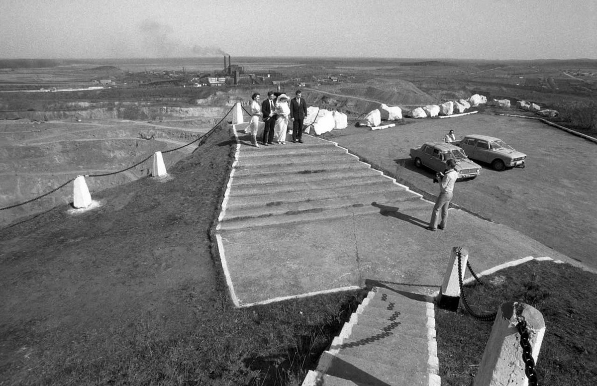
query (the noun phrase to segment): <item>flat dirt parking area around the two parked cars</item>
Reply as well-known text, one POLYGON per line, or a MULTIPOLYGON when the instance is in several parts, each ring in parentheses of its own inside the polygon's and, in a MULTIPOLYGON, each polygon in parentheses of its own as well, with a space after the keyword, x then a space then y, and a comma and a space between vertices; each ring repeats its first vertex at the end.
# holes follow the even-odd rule
MULTIPOLYGON (((475 180, 457 183, 453 202, 484 218, 522 231, 544 245, 597 268, 597 144, 531 119, 479 113, 449 119, 407 119, 379 131, 355 128, 324 137, 361 156, 419 192, 438 193, 433 173, 417 169, 411 147, 485 134, 527 153, 527 167, 497 172, 490 165, 475 180)), ((474 257, 472 257, 474 259, 474 257)), ((474 261, 474 260, 473 260, 474 261)))

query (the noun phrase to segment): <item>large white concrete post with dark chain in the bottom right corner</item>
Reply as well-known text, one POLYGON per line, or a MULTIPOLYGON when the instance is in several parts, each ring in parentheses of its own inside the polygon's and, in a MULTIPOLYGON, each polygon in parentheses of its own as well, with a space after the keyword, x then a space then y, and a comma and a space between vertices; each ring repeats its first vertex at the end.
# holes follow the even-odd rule
POLYGON ((527 386, 525 364, 522 360, 520 334, 516 325, 524 317, 527 322, 533 359, 537 363, 541 342, 545 335, 543 315, 525 303, 506 302, 497 311, 474 386, 527 386))

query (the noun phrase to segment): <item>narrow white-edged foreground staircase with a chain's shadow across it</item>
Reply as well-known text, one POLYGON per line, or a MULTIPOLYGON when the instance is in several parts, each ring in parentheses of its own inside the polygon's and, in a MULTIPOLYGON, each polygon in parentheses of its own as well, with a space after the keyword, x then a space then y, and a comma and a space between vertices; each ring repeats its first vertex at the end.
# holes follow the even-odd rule
POLYGON ((373 288, 303 386, 439 386, 433 302, 373 288))

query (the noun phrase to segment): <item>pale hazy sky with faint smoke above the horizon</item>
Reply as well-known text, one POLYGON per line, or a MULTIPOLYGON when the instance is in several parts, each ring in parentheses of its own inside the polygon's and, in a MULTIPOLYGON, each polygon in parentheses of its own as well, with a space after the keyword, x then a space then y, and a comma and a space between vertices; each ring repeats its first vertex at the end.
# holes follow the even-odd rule
POLYGON ((0 58, 597 59, 597 0, 0 0, 0 58))

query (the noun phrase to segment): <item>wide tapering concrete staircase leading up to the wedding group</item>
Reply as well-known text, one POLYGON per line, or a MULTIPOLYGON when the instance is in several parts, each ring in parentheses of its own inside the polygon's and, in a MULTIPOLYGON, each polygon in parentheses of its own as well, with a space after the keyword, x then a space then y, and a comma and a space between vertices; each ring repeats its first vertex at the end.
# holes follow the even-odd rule
POLYGON ((334 143, 313 137, 304 141, 240 145, 218 230, 372 214, 380 211, 372 202, 421 197, 334 143))

